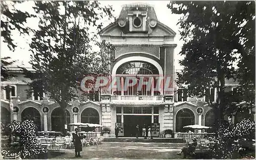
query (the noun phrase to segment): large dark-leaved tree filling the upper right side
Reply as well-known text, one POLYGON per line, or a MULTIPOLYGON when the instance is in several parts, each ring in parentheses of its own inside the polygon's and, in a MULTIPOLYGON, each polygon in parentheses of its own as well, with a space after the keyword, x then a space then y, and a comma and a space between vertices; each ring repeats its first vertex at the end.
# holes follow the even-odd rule
POLYGON ((254 2, 170 2, 167 7, 182 14, 178 24, 185 44, 180 52, 184 66, 177 84, 187 85, 188 95, 205 96, 217 89, 216 120, 237 111, 236 104, 254 104, 255 88, 255 4, 254 2), (234 63, 239 69, 234 68, 234 63), (240 82, 239 92, 225 92, 225 79, 240 82), (239 96, 239 98, 238 98, 239 96), (234 100, 234 101, 233 101, 234 100))

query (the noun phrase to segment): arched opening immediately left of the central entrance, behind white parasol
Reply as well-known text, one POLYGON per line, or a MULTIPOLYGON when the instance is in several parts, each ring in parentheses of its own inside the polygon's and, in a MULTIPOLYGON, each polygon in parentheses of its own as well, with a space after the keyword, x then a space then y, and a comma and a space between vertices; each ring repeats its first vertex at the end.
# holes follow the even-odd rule
MULTIPOLYGON (((99 124, 99 113, 93 108, 87 108, 81 113, 82 123, 95 123, 99 124)), ((81 128, 83 131, 88 131, 88 128, 81 128)))

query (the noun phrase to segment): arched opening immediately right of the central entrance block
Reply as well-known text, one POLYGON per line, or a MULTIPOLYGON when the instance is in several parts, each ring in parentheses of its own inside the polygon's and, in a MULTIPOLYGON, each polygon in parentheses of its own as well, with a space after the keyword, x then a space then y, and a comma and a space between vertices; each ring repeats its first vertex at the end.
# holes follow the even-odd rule
POLYGON ((186 125, 195 124, 195 115, 189 109, 181 109, 176 114, 176 132, 186 132, 187 129, 183 128, 186 125))

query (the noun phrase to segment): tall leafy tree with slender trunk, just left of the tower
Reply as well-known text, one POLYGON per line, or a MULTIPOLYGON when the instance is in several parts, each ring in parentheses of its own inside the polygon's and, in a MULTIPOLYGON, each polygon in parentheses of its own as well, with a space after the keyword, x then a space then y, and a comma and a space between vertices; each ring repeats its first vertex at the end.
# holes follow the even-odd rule
MULTIPOLYGON (((39 30, 30 43, 30 64, 34 72, 24 68, 32 89, 49 93, 66 111, 68 103, 77 97, 79 80, 88 74, 108 73, 111 46, 98 42, 97 33, 102 23, 98 21, 112 16, 112 7, 101 7, 92 1, 35 2, 39 15, 39 30)), ((31 95, 31 94, 30 94, 31 95)), ((66 116, 62 116, 63 125, 66 116)))

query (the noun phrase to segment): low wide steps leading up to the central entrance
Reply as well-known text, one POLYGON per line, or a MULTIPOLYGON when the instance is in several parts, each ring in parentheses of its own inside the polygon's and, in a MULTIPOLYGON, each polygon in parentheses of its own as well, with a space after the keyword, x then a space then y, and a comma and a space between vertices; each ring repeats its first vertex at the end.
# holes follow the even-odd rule
POLYGON ((153 138, 153 139, 144 139, 144 138, 135 138, 135 137, 105 137, 103 142, 159 142, 159 143, 185 143, 183 138, 153 138))

